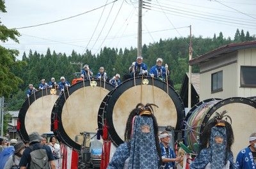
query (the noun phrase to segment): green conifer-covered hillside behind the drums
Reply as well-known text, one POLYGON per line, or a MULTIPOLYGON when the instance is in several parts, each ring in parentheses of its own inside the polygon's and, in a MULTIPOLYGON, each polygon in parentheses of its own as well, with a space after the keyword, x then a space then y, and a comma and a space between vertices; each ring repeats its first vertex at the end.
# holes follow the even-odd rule
MULTIPOLYGON (((237 29, 234 40, 231 38, 223 38, 223 34, 218 36, 214 34, 213 38, 192 37, 193 42, 193 58, 205 54, 214 48, 227 45, 229 43, 239 43, 242 41, 255 40, 255 35, 250 36, 250 33, 237 29)), ((143 45, 142 55, 143 62, 148 65, 148 68, 156 64, 157 57, 164 60, 170 68, 170 79, 172 79, 174 88, 179 91, 182 80, 186 72, 188 72, 188 48, 189 37, 183 38, 170 38, 166 40, 160 39, 156 43, 143 45)), ((83 65, 88 64, 96 75, 99 68, 104 66, 108 77, 113 77, 116 73, 121 75, 129 73, 128 68, 131 63, 135 61, 137 55, 136 48, 108 48, 104 47, 97 55, 92 55, 92 52, 86 50, 81 55, 76 51, 72 51, 71 55, 56 54, 48 48, 47 54, 38 54, 37 52, 25 53, 22 56, 22 62, 26 62, 23 66, 15 68, 12 73, 23 80, 20 82, 19 90, 10 93, 12 96, 8 99, 8 110, 19 110, 24 99, 26 98, 25 92, 28 89, 28 84, 33 84, 36 88, 40 84, 40 80, 45 78, 46 82, 51 80, 51 77, 60 81, 60 77, 64 76, 69 82, 76 78, 75 72, 79 72, 80 68, 77 65, 70 64, 70 62, 80 62, 83 65)), ((198 72, 198 68, 194 67, 193 72, 198 72)))

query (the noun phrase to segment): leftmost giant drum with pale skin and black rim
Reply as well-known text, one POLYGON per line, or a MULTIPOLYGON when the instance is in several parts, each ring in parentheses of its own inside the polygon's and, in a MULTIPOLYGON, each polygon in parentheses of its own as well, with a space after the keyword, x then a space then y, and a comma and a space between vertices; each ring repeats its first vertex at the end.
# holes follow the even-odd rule
POLYGON ((51 131, 52 107, 59 94, 58 89, 44 89, 25 100, 17 122, 17 131, 23 141, 29 140, 28 135, 32 132, 42 134, 51 131))

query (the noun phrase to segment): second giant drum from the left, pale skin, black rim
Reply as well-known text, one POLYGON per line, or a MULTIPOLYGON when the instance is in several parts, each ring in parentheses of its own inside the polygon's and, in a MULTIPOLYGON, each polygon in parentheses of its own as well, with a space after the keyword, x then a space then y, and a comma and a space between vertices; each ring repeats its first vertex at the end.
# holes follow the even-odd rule
POLYGON ((52 108, 52 131, 60 142, 81 150, 83 135, 97 133, 98 111, 113 86, 102 80, 85 80, 61 94, 52 108))

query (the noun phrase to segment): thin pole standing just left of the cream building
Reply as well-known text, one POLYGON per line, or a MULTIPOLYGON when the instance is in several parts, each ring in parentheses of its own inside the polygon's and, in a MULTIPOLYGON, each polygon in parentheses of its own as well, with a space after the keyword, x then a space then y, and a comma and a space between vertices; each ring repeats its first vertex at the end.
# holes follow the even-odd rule
MULTIPOLYGON (((189 43, 189 61, 192 59, 192 40, 191 40, 191 26, 189 26, 190 29, 190 43, 189 43)), ((189 65, 188 66, 188 110, 191 108, 191 71, 192 67, 189 65)))

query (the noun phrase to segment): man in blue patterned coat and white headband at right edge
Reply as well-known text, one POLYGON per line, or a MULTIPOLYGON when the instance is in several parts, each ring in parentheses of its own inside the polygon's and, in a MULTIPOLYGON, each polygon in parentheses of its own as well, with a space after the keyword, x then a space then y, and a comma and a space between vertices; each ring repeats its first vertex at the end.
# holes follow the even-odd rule
POLYGON ((237 154, 236 166, 239 169, 256 168, 256 133, 249 137, 250 145, 237 154))

